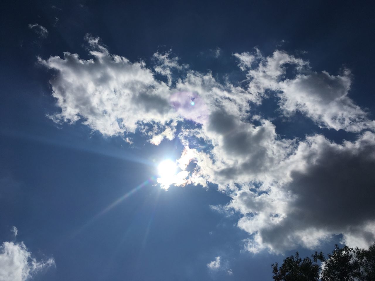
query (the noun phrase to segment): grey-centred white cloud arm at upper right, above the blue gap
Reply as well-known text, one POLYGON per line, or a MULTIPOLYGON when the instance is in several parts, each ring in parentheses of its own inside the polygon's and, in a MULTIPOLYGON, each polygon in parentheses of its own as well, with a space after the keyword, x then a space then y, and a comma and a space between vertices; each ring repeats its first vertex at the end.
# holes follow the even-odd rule
POLYGON ((248 70, 249 91, 257 93, 258 101, 271 90, 280 98, 280 108, 285 115, 299 111, 321 127, 348 132, 375 129, 375 122, 348 97, 352 75, 345 69, 341 75, 314 72, 308 61, 296 58, 284 51, 272 56, 255 57, 249 53, 234 54, 240 60, 240 68, 248 70), (252 69, 255 58, 261 58, 252 69), (297 73, 288 78, 287 66, 297 73))

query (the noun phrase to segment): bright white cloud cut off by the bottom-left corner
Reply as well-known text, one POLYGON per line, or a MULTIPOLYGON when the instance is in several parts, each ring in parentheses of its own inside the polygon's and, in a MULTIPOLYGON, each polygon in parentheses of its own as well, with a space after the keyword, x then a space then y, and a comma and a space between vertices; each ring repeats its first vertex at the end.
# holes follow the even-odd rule
POLYGON ((0 246, 0 281, 25 281, 54 264, 52 258, 37 261, 31 257, 23 242, 3 242, 0 246))

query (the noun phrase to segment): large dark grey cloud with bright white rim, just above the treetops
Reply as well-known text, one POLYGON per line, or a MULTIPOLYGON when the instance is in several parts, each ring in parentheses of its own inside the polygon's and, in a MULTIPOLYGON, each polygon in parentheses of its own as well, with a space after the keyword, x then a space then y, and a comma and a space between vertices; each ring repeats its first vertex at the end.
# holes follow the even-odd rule
POLYGON ((297 245, 314 248, 338 234, 350 246, 372 244, 374 149, 371 132, 342 145, 321 135, 299 143, 280 166, 284 184, 260 195, 241 190, 229 204, 244 215, 239 227, 254 235, 247 249, 282 252, 297 245))

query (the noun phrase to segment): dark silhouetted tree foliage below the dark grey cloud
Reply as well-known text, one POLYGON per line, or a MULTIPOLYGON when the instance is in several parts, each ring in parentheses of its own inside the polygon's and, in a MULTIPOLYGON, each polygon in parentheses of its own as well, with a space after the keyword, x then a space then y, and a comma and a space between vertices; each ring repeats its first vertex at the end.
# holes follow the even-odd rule
POLYGON ((271 266, 275 281, 375 281, 375 244, 368 250, 335 245, 327 259, 323 252, 315 252, 312 259, 301 259, 297 252, 280 267, 271 266))

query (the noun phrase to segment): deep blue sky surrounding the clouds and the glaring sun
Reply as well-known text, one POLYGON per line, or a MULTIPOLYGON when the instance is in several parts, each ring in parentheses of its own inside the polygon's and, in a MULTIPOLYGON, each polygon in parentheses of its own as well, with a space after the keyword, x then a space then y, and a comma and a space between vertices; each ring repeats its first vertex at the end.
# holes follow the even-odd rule
MULTIPOLYGON (((243 74, 232 54, 258 46, 267 56, 282 48, 317 71, 351 69, 350 96, 374 118, 370 1, 2 1, 0 10, 0 239, 12 240, 9 230, 17 226, 17 241, 33 256, 55 259, 55 268, 33 280, 271 280, 270 264, 283 259, 243 251, 249 235, 236 226, 238 215, 209 206, 230 201, 215 185, 164 191, 151 180, 92 219, 156 175, 153 160, 178 158, 182 146, 176 140, 153 146, 137 134, 129 146, 80 123, 53 123, 45 116, 60 110, 48 83, 52 72, 36 63, 37 56, 89 58, 83 38, 90 33, 130 61, 149 64, 154 52, 172 48, 191 69, 210 69, 219 80, 229 73, 234 80, 243 74), (47 28, 46 38, 28 28, 34 23, 47 28), (209 50, 217 47, 215 59, 209 50), (216 256, 233 275, 208 270, 216 256)), ((275 106, 270 98, 254 112, 272 118, 275 106)), ((288 138, 320 130, 299 115, 275 124, 288 138)), ((355 139, 343 130, 320 131, 337 142, 355 139)), ((338 241, 320 249, 329 252, 338 241)))

